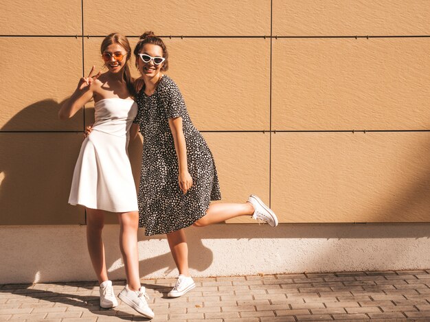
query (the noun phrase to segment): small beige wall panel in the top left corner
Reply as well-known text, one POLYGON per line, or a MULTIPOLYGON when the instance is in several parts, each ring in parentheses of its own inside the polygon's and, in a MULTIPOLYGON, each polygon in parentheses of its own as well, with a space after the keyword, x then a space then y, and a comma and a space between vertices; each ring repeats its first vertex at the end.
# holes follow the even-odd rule
POLYGON ((80 0, 1 1, 1 34, 82 34, 80 0))

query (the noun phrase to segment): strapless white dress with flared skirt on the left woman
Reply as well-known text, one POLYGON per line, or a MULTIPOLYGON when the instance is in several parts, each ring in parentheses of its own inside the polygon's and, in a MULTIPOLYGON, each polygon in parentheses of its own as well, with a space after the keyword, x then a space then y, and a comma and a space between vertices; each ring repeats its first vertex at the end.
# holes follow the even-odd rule
POLYGON ((94 110, 95 123, 80 148, 69 203, 112 212, 137 211, 127 152, 137 104, 133 100, 105 98, 94 104, 94 110))

